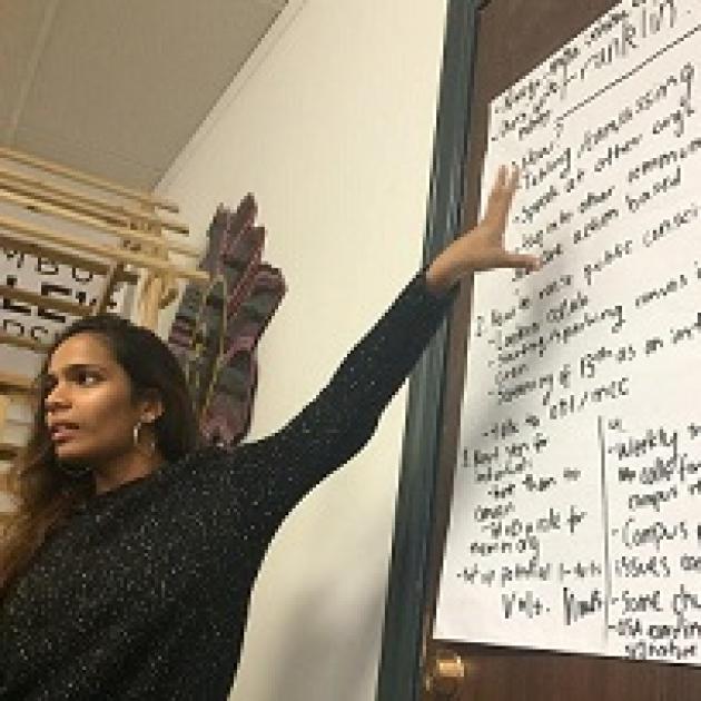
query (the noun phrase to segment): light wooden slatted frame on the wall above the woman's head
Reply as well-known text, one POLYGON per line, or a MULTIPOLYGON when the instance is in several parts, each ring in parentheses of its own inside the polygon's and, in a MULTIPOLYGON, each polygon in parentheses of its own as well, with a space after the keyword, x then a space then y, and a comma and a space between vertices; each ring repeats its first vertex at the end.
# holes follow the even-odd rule
MULTIPOLYGON (((101 278, 89 305, 10 284, 0 285, 3 304, 85 317, 107 310, 116 286, 128 284, 139 290, 137 323, 155 329, 159 312, 177 297, 178 279, 209 283, 209 275, 195 265, 171 261, 171 254, 198 260, 200 251, 172 239, 187 236, 188 227, 171 216, 178 213, 175 203, 152 194, 0 147, 0 205, 12 214, 0 214, 2 248, 101 278), (81 234, 67 234, 67 226, 79 227, 81 234)), ((0 343, 38 354, 47 349, 43 343, 4 330, 0 343)), ((0 368, 0 438, 10 403, 30 393, 30 378, 0 368)), ((0 442, 1 461, 10 460, 13 451, 17 446, 0 442)))

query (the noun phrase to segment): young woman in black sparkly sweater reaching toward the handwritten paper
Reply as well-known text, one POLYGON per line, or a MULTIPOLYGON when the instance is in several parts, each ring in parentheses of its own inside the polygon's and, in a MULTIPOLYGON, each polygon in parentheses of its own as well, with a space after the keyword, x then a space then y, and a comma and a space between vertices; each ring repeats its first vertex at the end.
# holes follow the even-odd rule
POLYGON ((0 699, 226 699, 250 590, 299 500, 357 453, 465 275, 534 267, 504 250, 517 174, 402 292, 330 383, 278 433, 198 447, 167 346, 110 316, 46 359, 21 505, 0 541, 0 699))

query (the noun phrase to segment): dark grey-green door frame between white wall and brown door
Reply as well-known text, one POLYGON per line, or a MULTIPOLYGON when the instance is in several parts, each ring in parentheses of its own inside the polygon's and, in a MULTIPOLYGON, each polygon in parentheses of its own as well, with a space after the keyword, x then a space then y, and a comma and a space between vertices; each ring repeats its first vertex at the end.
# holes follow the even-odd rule
MULTIPOLYGON (((490 0, 447 0, 423 261, 461 230, 477 20, 490 0)), ((416 701, 422 688, 447 358, 447 323, 412 373, 383 630, 377 701, 416 701)))

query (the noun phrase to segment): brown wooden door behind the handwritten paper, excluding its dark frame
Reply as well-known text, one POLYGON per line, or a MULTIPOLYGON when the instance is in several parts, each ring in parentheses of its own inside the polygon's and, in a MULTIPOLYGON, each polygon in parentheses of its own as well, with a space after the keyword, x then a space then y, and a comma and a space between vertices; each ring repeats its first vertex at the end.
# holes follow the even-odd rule
MULTIPOLYGON (((474 221, 480 174, 486 144, 488 101, 545 59, 598 16, 611 0, 492 0, 478 10, 476 53, 466 161, 465 220, 474 221)), ((461 300, 452 327, 441 446, 441 490, 436 543, 432 562, 432 606, 435 601, 437 555, 443 551, 451 477, 457 446, 458 411, 464 374, 467 318, 461 300)), ((433 653, 451 651, 467 663, 460 701, 699 701, 701 670, 650 662, 599 659, 574 654, 494 649, 481 645, 430 643, 433 653)), ((431 659, 431 654, 430 654, 431 659)), ((434 694, 435 695, 435 694, 434 694)), ((440 695, 440 694, 438 694, 440 695)), ((432 698, 425 694, 425 699, 432 698)))

